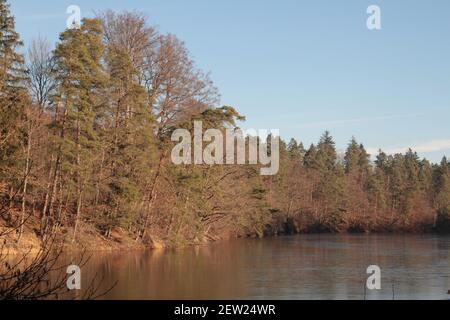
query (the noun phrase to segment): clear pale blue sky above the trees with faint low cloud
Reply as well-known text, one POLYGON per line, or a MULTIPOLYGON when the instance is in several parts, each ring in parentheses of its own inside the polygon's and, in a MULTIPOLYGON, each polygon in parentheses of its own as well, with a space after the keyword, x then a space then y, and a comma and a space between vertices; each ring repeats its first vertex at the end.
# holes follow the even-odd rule
POLYGON ((280 129, 306 145, 328 129, 344 149, 413 147, 450 156, 448 0, 13 0, 25 42, 56 42, 66 8, 138 10, 186 42, 244 128, 280 129), (366 27, 369 5, 382 29, 366 27))

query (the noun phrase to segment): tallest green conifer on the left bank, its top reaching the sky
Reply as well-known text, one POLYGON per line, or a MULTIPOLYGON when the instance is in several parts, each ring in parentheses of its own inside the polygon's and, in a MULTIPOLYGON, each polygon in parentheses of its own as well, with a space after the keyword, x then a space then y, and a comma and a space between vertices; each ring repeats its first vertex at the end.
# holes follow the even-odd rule
MULTIPOLYGON (((99 124, 105 109, 106 73, 102 25, 96 19, 84 19, 79 29, 69 29, 60 36, 55 57, 59 87, 55 104, 61 108, 58 128, 57 160, 53 173, 52 197, 58 179, 71 179, 66 187, 75 194, 73 210, 74 238, 81 220, 83 196, 92 188, 91 177, 99 154, 99 124)), ((51 210, 52 208, 50 208, 51 210)))

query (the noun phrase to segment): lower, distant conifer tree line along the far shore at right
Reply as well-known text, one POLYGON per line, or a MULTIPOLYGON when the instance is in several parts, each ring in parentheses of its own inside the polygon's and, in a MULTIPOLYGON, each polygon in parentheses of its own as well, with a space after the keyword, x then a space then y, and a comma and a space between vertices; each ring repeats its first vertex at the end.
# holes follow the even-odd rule
POLYGON ((352 138, 336 151, 329 132, 308 149, 282 148, 279 176, 268 181, 275 215, 288 232, 449 231, 450 163, 379 151, 372 162, 352 138))

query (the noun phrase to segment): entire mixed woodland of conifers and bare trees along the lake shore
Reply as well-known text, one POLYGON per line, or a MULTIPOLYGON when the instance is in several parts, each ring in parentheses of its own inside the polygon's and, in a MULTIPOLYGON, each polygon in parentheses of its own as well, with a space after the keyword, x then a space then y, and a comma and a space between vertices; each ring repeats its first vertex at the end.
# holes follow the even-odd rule
MULTIPOLYGON (((296 232, 448 231, 450 163, 413 151, 371 161, 352 139, 282 142, 280 171, 173 165, 171 133, 233 128, 184 43, 137 12, 106 11, 53 48, 24 46, 0 0, 0 227, 74 242, 151 244, 296 232), (22 54, 24 53, 24 54, 22 54)), ((305 106, 307 107, 307 106, 305 106)))

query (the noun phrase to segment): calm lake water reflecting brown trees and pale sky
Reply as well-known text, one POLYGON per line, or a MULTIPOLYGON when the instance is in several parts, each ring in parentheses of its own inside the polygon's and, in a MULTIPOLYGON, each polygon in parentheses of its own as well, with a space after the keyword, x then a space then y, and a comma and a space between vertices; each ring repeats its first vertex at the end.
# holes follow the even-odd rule
MULTIPOLYGON (((169 251, 95 253, 104 299, 364 299, 369 265, 381 290, 366 299, 447 299, 450 237, 301 235, 169 251)), ((84 284, 86 285, 86 284, 84 284)))

